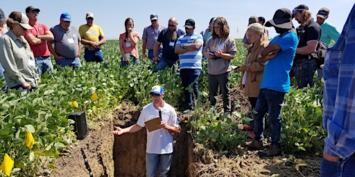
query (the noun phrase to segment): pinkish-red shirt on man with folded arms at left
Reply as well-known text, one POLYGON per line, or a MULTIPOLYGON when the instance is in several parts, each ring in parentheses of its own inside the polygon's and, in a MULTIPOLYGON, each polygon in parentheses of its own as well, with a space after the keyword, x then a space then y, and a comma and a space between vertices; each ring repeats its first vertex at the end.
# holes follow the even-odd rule
MULTIPOLYGON (((44 33, 49 30, 49 28, 44 25, 44 24, 31 24, 28 23, 32 26, 32 30, 27 30, 27 32, 25 33, 25 37, 26 35, 32 33, 32 35, 36 36, 36 35, 44 35, 44 33)), ((38 45, 32 45, 30 44, 31 50, 33 52, 33 55, 35 55, 35 57, 41 57, 41 56, 49 56, 51 55, 51 53, 49 53, 48 50, 48 46, 47 46, 47 42, 44 41, 42 44, 38 44, 38 45)))

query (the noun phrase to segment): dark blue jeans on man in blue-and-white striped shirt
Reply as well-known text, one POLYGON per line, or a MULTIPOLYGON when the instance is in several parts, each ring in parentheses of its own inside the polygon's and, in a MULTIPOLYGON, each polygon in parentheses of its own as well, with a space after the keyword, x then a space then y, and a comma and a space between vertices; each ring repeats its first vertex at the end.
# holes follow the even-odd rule
POLYGON ((180 77, 182 86, 184 86, 185 103, 187 109, 193 109, 193 95, 197 99, 198 94, 198 77, 200 76, 200 69, 180 69, 180 77), (191 85, 191 88, 189 86, 191 85), (192 92, 191 92, 192 89, 192 92))

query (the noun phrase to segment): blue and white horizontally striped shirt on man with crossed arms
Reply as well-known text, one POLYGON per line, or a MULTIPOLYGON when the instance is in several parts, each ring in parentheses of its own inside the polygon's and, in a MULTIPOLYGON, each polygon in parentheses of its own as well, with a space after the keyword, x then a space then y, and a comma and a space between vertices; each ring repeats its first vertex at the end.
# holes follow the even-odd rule
POLYGON ((185 44, 193 44, 196 42, 201 43, 201 47, 198 50, 189 51, 187 53, 179 55, 180 59, 180 69, 202 69, 202 46, 203 37, 202 35, 192 32, 190 35, 182 35, 176 41, 176 45, 184 46, 185 44))

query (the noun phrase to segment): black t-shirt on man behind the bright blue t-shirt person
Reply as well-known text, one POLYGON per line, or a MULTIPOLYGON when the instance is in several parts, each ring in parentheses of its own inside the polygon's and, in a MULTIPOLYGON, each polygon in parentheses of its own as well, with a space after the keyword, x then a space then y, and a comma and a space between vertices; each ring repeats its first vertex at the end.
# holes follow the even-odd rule
MULTIPOLYGON (((297 29, 298 45, 301 48, 307 45, 307 41, 319 41, 320 39, 320 26, 313 19, 309 21, 302 29, 297 29)), ((309 55, 295 55, 295 59, 308 59, 309 55)))

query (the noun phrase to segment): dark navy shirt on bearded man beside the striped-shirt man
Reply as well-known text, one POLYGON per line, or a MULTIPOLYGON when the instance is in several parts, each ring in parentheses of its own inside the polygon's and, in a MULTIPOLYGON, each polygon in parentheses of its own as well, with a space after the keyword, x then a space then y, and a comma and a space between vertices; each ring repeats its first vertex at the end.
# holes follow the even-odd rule
POLYGON ((185 32, 183 30, 178 29, 175 40, 169 40, 166 37, 167 32, 168 32, 168 28, 165 28, 164 30, 162 30, 162 32, 160 32, 159 37, 157 39, 157 41, 159 41, 160 43, 163 44, 162 55, 164 58, 167 58, 167 59, 178 60, 179 55, 175 53, 175 44, 176 44, 176 41, 178 40, 178 38, 180 36, 184 35, 185 32), (170 45, 171 42, 173 43, 173 45, 170 45))

